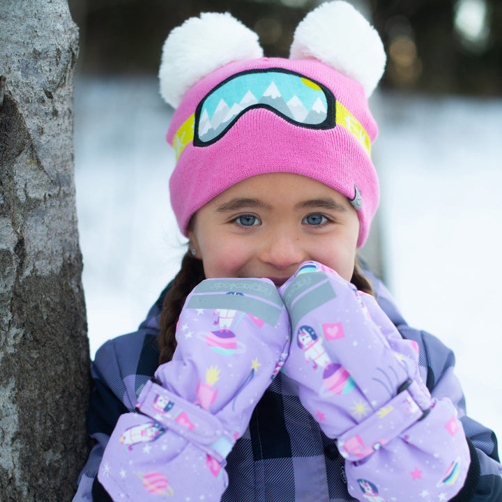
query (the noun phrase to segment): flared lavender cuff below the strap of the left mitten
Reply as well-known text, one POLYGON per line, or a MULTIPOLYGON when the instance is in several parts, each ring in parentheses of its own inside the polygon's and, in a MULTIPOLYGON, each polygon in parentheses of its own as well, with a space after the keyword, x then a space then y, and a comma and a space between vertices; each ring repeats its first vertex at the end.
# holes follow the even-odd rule
POLYGON ((219 502, 228 485, 225 469, 211 455, 137 413, 119 418, 98 480, 115 502, 219 502))

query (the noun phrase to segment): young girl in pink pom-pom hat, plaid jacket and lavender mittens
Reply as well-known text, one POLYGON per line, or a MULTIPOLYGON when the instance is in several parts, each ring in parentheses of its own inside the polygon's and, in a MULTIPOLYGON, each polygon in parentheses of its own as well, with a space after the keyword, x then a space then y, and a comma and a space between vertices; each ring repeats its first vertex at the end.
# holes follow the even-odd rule
POLYGON ((307 15, 290 59, 264 58, 229 15, 169 35, 189 249, 139 330, 96 354, 75 501, 502 500, 495 436, 465 415, 452 353, 357 262, 384 64, 342 1, 307 15))

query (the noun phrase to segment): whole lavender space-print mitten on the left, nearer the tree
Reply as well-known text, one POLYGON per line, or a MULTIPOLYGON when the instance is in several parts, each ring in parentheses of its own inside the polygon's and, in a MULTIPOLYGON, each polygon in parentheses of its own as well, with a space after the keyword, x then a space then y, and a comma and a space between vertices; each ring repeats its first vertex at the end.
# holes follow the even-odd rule
POLYGON ((273 282, 209 279, 187 298, 169 363, 119 418, 98 478, 114 501, 219 501, 225 457, 289 350, 273 282))

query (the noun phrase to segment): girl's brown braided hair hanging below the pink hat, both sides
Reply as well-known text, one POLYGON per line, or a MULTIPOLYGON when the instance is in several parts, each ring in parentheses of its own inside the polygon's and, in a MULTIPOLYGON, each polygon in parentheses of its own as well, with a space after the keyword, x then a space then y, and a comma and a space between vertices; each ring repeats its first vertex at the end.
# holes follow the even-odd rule
MULTIPOLYGON (((178 324, 181 309, 185 305, 185 300, 190 291, 205 278, 202 261, 192 257, 189 253, 185 254, 183 261, 181 261, 181 269, 178 275, 174 277, 172 287, 167 291, 164 298, 162 314, 160 314, 159 365, 172 359, 174 349, 176 349, 176 324, 178 324)), ((360 291, 373 294, 372 285, 361 272, 357 258, 351 282, 360 291)))

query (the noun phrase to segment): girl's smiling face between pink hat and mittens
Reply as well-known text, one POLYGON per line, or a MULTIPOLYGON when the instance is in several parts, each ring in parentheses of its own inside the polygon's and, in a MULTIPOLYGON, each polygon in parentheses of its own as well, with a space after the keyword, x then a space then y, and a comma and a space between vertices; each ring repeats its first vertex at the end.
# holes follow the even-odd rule
POLYGON ((188 232, 207 278, 268 277, 277 287, 309 260, 351 280, 358 234, 347 197, 289 173, 233 185, 197 211, 188 232))

